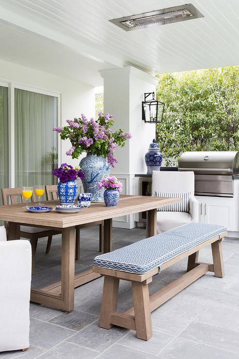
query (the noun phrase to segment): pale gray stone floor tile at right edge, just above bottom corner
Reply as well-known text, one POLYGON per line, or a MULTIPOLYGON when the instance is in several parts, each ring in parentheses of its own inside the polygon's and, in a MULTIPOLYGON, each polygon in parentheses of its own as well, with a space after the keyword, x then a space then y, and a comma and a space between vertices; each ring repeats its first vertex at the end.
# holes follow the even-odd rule
POLYGON ((239 353, 239 334, 234 330, 193 322, 179 337, 239 353))

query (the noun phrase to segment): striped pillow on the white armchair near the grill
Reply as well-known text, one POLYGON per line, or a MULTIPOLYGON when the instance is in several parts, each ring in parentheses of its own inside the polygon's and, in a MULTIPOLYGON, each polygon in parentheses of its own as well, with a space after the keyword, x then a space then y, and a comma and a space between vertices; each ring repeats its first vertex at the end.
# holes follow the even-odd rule
POLYGON ((156 197, 182 198, 182 202, 158 208, 158 212, 188 212, 190 213, 189 193, 166 193, 155 191, 156 197))

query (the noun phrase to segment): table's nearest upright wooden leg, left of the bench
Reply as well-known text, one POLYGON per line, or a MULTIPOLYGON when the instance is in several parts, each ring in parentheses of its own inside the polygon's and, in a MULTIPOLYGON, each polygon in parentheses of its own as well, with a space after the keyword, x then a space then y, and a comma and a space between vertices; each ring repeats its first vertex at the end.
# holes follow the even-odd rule
POLYGON ((62 300, 65 311, 74 309, 75 228, 62 231, 62 300))

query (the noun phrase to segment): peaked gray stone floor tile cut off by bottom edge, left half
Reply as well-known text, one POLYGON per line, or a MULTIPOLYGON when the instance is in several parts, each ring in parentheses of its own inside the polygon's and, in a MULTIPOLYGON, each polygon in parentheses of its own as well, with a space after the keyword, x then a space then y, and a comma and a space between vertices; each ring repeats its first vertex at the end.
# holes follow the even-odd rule
POLYGON ((41 359, 94 359, 99 353, 80 347, 74 343, 63 342, 54 348, 50 349, 47 353, 41 355, 41 359))

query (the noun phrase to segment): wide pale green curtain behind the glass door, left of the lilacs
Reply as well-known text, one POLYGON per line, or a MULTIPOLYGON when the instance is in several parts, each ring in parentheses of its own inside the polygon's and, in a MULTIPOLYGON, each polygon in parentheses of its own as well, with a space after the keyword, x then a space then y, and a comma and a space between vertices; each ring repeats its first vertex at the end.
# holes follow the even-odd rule
POLYGON ((15 187, 54 184, 58 98, 15 88, 15 187))

